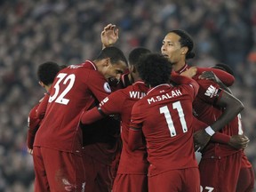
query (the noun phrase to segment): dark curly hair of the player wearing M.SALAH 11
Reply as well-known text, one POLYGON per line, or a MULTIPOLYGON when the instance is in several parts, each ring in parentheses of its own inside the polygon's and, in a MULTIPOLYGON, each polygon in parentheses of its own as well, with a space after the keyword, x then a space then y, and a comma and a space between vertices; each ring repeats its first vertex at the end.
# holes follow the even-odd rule
POLYGON ((142 55, 137 69, 141 79, 152 87, 170 83, 172 64, 162 54, 148 53, 142 55))

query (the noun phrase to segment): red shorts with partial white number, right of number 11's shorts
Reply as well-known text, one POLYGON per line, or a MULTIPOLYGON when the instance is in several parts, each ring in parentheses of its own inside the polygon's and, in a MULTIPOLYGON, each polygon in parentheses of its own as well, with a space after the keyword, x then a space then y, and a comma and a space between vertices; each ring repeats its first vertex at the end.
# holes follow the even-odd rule
POLYGON ((234 192, 241 168, 241 152, 220 158, 202 157, 199 164, 202 192, 234 192))

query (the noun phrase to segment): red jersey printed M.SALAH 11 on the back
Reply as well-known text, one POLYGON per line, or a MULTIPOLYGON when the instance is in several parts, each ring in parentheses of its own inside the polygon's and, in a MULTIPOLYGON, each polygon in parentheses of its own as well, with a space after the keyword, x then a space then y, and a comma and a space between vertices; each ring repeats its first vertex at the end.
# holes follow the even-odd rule
POLYGON ((130 127, 142 128, 147 140, 148 176, 197 167, 192 129, 194 95, 192 85, 160 84, 133 106, 130 127))

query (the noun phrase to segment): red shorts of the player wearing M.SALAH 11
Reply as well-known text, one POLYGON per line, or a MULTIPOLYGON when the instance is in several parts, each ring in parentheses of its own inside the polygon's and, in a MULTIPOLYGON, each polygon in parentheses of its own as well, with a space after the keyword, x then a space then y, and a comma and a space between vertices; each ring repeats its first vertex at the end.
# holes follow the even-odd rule
POLYGON ((198 168, 172 170, 148 177, 149 192, 193 191, 200 192, 198 168))

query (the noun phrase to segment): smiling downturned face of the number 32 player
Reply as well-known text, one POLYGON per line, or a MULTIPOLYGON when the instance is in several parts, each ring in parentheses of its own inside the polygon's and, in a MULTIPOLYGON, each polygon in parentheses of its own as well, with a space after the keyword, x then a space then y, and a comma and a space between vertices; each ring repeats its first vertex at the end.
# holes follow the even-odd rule
POLYGON ((121 75, 124 73, 125 69, 127 68, 124 61, 119 60, 116 63, 109 63, 108 66, 104 69, 103 76, 106 79, 120 79, 121 75))

